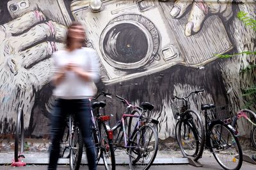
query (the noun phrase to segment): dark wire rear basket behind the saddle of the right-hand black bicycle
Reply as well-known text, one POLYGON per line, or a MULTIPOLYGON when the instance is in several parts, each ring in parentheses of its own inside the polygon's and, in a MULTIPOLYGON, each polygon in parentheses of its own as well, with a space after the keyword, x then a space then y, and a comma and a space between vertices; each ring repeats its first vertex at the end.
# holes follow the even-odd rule
POLYGON ((232 118, 235 113, 234 104, 226 104, 216 106, 215 108, 207 111, 207 117, 209 120, 227 120, 228 118, 232 118))

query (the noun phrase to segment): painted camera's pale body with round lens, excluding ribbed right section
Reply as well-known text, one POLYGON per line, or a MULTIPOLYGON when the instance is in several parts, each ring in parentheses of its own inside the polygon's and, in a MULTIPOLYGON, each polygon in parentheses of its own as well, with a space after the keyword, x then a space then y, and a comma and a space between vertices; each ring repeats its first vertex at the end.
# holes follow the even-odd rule
POLYGON ((76 20, 86 25, 105 83, 156 73, 182 60, 157 3, 102 1, 99 13, 88 6, 71 9, 76 20))

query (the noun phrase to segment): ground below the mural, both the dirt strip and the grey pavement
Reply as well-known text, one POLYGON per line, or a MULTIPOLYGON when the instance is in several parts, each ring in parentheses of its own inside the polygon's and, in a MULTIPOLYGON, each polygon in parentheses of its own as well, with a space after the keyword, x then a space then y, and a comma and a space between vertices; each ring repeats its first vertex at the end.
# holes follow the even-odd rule
MULTIPOLYGON (((10 170, 10 169, 20 169, 20 170, 31 170, 31 169, 38 169, 38 170, 46 170, 47 164, 49 162, 49 141, 45 140, 42 142, 29 141, 26 139, 26 143, 24 145, 25 152, 23 155, 25 159, 22 161, 26 162, 25 167, 12 167, 10 164, 12 163, 14 157, 14 143, 13 141, 0 140, 0 170, 10 170)), ((252 155, 252 153, 256 153, 256 150, 252 150, 252 148, 243 148, 243 152, 247 153, 248 155, 252 155)), ((116 149, 115 151, 116 157, 116 170, 129 170, 129 157, 122 149, 116 149)), ((244 157, 245 158, 245 157, 244 157)), ((245 159, 244 159, 245 160, 245 159)), ((69 160, 68 159, 59 159, 58 162, 58 170, 66 170, 69 169, 68 166, 69 160)), ((193 161, 188 158, 183 158, 182 154, 173 141, 164 142, 159 145, 159 150, 157 152, 156 159, 154 160, 154 164, 150 167, 150 170, 190 170, 190 169, 198 169, 198 170, 213 170, 213 169, 223 169, 218 162, 214 159, 212 153, 205 150, 202 159, 195 163, 193 166, 193 161), (199 166, 199 167, 196 167, 199 166)), ((248 163, 243 161, 243 166, 241 169, 244 170, 256 170, 256 162, 255 164, 248 163)), ((82 158, 82 165, 81 170, 88 169, 86 166, 87 160, 86 155, 83 154, 82 158)), ((99 166, 97 170, 105 169, 102 166, 102 161, 99 162, 99 166)), ((139 170, 140 168, 136 169, 139 170)))

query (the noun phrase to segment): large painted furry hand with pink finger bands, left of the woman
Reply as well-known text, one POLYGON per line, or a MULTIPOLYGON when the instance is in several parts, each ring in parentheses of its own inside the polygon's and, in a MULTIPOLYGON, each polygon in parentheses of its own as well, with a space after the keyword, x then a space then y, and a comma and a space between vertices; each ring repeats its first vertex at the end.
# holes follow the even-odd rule
POLYGON ((35 93, 50 81, 50 55, 64 47, 66 30, 46 21, 41 11, 0 25, 0 133, 13 132, 6 127, 13 127, 10 124, 15 124, 20 106, 28 127, 35 93))

